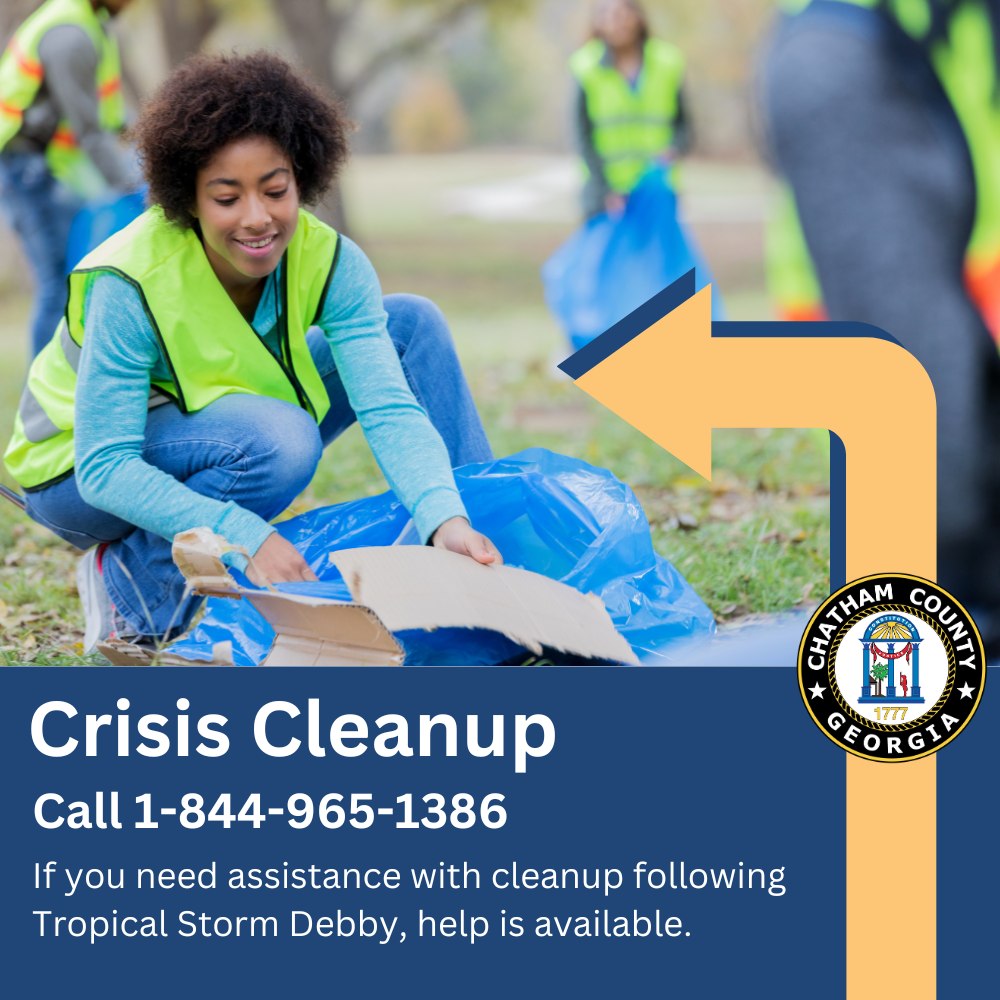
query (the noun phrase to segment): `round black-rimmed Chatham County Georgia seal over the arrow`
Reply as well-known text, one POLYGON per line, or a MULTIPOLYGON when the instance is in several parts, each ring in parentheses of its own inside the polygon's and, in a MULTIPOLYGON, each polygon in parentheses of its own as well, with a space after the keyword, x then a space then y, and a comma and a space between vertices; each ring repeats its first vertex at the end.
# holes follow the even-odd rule
POLYGON ((926 757, 968 724, 986 656, 969 613, 947 591, 904 574, 842 587, 799 646, 799 690, 837 746, 869 760, 926 757))

